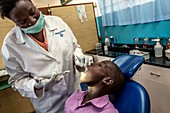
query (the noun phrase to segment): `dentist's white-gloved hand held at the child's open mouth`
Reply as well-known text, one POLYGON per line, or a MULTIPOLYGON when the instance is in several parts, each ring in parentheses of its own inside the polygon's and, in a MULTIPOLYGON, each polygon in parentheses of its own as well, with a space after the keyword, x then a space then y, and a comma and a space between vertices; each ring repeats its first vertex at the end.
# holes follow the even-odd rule
POLYGON ((75 65, 86 67, 89 65, 89 58, 85 55, 75 56, 75 65))

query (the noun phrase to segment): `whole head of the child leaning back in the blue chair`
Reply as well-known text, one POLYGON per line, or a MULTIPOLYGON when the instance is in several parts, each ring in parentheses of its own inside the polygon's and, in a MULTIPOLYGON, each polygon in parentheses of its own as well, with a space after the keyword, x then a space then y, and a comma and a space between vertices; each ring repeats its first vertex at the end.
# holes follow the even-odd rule
POLYGON ((92 64, 82 73, 80 81, 89 87, 102 87, 106 93, 116 93, 124 85, 124 75, 113 62, 106 60, 92 64))

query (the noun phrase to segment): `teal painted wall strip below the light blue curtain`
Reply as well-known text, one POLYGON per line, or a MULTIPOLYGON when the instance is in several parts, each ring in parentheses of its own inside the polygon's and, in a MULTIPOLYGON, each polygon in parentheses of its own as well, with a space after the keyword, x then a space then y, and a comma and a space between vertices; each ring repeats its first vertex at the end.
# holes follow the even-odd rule
MULTIPOLYGON (((116 38, 116 43, 133 44, 133 38, 169 38, 170 37, 170 20, 152 22, 146 24, 135 24, 126 26, 103 27, 102 18, 98 17, 99 36, 104 42, 105 31, 108 36, 113 35, 116 38)), ((165 40, 165 39, 164 39, 165 40)), ((166 41, 166 40, 165 40, 166 41)), ((163 42, 165 45, 166 42, 163 42)))

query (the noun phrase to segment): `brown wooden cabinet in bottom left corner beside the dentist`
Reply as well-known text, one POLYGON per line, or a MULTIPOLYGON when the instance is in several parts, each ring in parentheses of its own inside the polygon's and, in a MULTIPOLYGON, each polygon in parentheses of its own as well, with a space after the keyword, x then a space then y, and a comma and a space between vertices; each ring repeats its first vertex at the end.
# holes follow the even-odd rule
POLYGON ((12 88, 0 91, 0 113, 34 113, 30 100, 12 88))

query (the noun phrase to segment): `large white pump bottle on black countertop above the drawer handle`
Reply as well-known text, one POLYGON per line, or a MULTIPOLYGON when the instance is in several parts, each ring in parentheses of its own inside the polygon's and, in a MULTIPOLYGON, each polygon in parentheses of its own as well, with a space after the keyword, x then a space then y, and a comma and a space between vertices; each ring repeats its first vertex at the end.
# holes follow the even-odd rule
POLYGON ((155 57, 162 57, 163 47, 159 41, 156 42, 156 45, 154 46, 154 50, 155 50, 155 57))

